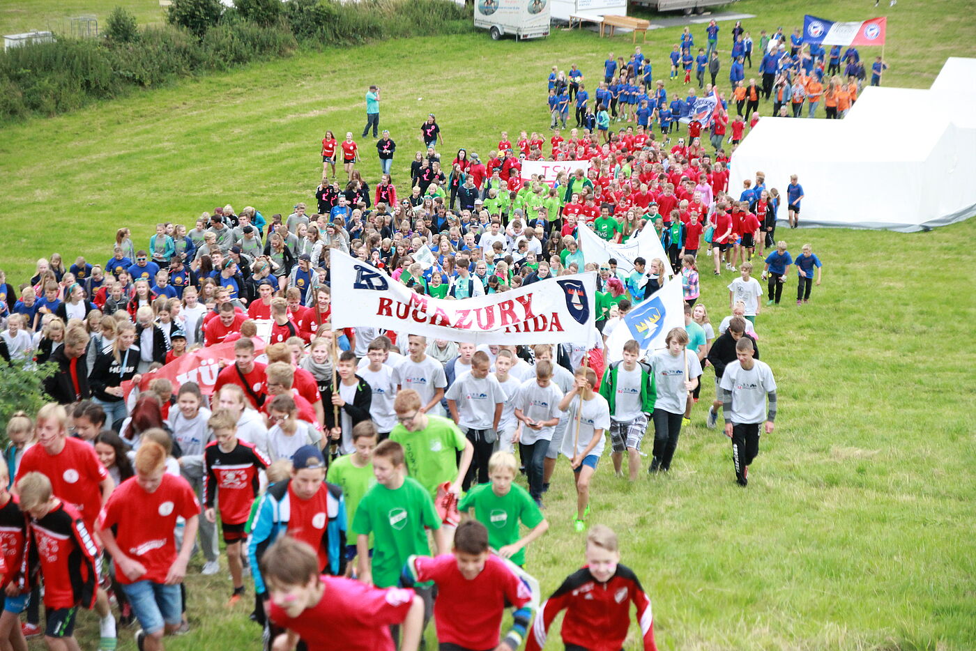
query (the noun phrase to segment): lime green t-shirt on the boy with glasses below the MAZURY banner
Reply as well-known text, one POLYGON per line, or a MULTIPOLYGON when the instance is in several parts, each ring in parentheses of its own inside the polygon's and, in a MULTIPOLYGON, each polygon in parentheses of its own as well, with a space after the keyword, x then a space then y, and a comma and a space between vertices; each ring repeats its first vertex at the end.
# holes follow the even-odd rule
POLYGON ((458 477, 456 452, 464 450, 468 442, 454 421, 431 415, 427 415, 427 427, 420 431, 407 431, 397 423, 389 432, 389 440, 403 446, 407 472, 431 498, 437 496, 437 486, 458 477))

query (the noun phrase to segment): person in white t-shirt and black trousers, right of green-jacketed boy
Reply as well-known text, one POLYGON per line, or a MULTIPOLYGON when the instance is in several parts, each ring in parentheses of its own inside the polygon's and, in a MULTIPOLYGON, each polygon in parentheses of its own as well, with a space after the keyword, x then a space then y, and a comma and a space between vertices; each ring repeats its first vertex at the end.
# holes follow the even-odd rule
MULTIPOLYGON (((688 350, 688 333, 672 328, 665 338, 667 350, 651 357, 657 393, 654 401, 654 458, 648 472, 667 472, 681 434, 688 393, 698 387, 702 365, 695 352, 688 350)), ((626 353, 625 353, 626 354, 626 353)))

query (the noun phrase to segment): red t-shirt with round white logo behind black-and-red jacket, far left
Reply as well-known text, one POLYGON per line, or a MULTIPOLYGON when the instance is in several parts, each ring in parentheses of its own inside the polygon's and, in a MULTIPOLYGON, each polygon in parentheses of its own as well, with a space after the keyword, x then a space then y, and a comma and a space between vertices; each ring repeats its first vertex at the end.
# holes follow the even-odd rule
POLYGON ((54 496, 81 513, 91 530, 102 510, 102 483, 108 472, 95 455, 95 448, 77 438, 65 438, 56 455, 43 445, 32 445, 23 453, 17 480, 27 472, 40 472, 51 480, 54 496))

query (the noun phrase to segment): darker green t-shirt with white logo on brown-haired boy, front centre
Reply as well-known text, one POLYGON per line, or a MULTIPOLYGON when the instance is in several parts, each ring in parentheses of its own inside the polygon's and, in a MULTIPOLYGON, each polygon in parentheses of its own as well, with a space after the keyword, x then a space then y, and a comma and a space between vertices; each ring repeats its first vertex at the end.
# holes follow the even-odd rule
POLYGON ((440 518, 427 491, 405 477, 395 490, 383 484, 369 489, 359 501, 352 526, 359 534, 373 534, 373 584, 392 588, 407 558, 430 555, 425 527, 440 529, 440 518))

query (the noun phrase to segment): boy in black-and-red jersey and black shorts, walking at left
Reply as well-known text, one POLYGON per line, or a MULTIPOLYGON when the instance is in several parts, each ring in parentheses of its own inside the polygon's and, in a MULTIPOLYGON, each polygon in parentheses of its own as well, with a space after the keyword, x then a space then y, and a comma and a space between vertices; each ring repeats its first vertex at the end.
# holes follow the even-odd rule
POLYGON ((241 543, 245 539, 244 525, 251 514, 251 505, 258 495, 259 471, 270 461, 250 443, 237 440, 237 419, 224 409, 214 412, 207 427, 217 437, 203 451, 203 501, 210 522, 217 522, 214 505, 220 500, 221 525, 227 551, 227 568, 233 582, 228 605, 237 603, 244 594, 244 564, 241 543))

